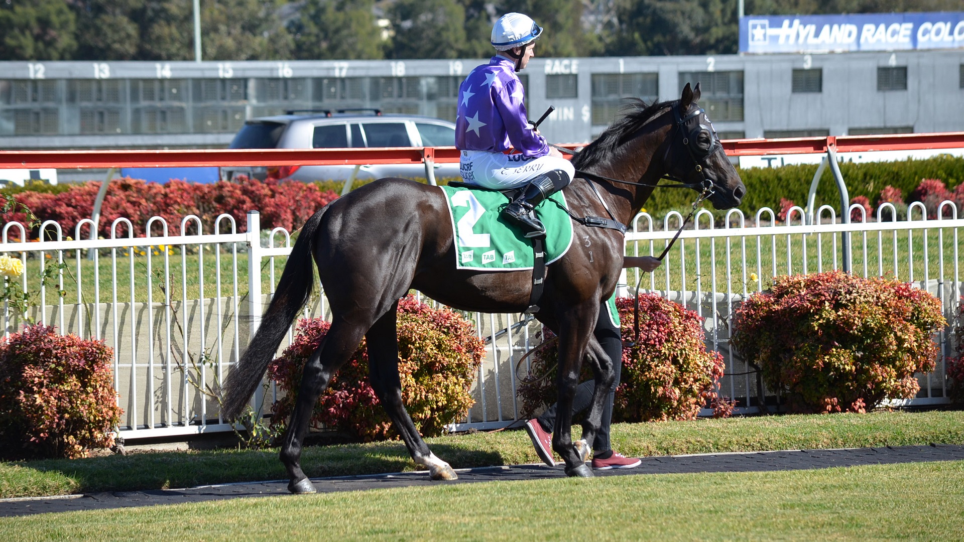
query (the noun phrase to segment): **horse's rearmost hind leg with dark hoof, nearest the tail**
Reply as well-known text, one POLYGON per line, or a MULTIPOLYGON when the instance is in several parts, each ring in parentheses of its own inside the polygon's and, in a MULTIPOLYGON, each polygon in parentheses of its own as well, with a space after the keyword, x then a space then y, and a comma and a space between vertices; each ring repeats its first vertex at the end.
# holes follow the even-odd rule
POLYGON ((298 389, 298 401, 281 444, 281 463, 288 472, 288 491, 291 493, 315 492, 314 486, 301 468, 302 443, 308 433, 311 412, 318 395, 325 391, 332 380, 332 375, 358 349, 365 328, 366 326, 357 323, 349 324, 335 319, 321 346, 311 354, 305 364, 301 387, 298 389))

